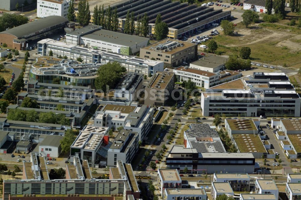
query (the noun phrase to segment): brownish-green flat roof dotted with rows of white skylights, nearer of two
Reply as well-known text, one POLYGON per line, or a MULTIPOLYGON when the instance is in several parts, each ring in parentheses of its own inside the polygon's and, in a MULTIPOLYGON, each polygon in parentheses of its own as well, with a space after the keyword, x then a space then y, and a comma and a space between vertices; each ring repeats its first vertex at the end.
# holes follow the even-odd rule
POLYGON ((237 147, 242 153, 266 152, 266 149, 258 135, 232 134, 237 147))

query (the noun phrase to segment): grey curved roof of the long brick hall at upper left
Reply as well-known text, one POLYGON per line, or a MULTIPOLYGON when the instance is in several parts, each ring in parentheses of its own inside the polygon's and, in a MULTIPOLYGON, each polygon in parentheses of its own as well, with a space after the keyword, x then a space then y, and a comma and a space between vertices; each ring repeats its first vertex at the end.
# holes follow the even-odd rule
MULTIPOLYGON (((37 35, 36 32, 38 32, 38 31, 42 31, 51 26, 55 26, 60 23, 67 23, 67 22, 68 22, 68 20, 65 17, 48 16, 48 17, 45 17, 45 18, 37 20, 37 21, 29 22, 29 23, 14 27, 12 29, 2 31, 2 32, 0 32, 0 34, 6 33, 6 34, 14 35, 17 38, 23 38, 30 34, 37 35)), ((55 28, 57 28, 57 27, 55 27, 55 28)))

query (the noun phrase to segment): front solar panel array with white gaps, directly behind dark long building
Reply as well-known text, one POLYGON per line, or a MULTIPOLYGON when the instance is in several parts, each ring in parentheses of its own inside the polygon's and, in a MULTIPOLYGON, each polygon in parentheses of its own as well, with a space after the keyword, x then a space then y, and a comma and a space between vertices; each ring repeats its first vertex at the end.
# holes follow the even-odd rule
POLYGON ((216 142, 197 142, 197 141, 190 141, 191 147, 197 149, 198 153, 225 153, 225 149, 220 141, 216 142), (208 149, 211 149, 209 151, 208 149))

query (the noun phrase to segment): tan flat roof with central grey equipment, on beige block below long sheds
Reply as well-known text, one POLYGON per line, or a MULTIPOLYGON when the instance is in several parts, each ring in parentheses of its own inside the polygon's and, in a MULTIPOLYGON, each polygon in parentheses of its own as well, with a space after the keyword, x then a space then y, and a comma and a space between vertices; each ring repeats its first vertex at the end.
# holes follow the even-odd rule
MULTIPOLYGON (((173 45, 174 46, 174 45, 173 45)), ((191 42, 185 42, 185 41, 179 41, 179 40, 175 40, 175 39, 169 39, 169 38, 165 38, 163 40, 160 40, 158 42, 155 42, 153 44, 150 44, 146 47, 143 47, 141 49, 147 49, 147 50, 151 50, 151 51, 156 51, 158 53, 165 53, 165 54, 174 54, 176 52, 179 52, 179 51, 182 51, 184 49, 187 49, 189 47, 193 47, 193 46, 197 46, 197 44, 194 44, 194 43, 191 43, 191 42), (175 44, 175 43, 178 43, 179 45, 175 48, 168 48, 170 50, 167 50, 167 51, 164 51, 164 50, 161 50, 160 48, 156 48, 158 45, 168 45, 171 43, 175 44)), ((166 48, 165 48, 166 49, 166 48)))

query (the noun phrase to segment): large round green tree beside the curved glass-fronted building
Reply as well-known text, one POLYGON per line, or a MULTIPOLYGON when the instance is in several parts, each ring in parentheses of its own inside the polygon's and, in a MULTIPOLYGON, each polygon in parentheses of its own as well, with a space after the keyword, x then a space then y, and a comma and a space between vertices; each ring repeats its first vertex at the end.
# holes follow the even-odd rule
POLYGON ((101 89, 106 94, 107 86, 109 89, 115 88, 124 72, 126 72, 126 68, 118 62, 101 65, 97 71, 98 77, 95 78, 96 89, 101 89))

